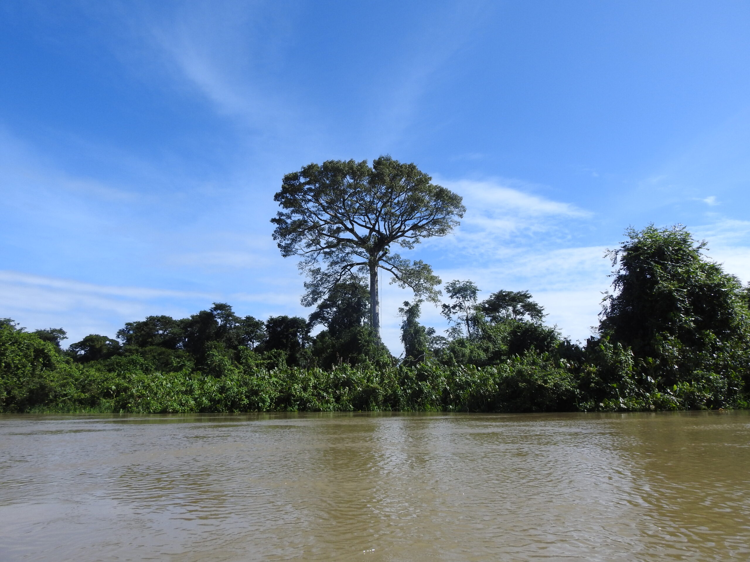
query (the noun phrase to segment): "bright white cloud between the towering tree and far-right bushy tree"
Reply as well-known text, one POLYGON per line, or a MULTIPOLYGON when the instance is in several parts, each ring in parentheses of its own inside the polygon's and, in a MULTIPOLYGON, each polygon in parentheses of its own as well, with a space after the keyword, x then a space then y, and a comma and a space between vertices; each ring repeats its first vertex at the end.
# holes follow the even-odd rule
MULTIPOLYGON (((533 193, 536 186, 509 180, 458 180, 439 183, 463 196, 466 216, 455 235, 425 241, 428 259, 444 282, 473 280, 480 299, 493 291, 529 290, 547 309, 548 324, 564 336, 583 340, 598 323, 601 293, 607 290, 611 265, 606 247, 577 246, 571 230, 593 215, 586 209, 533 193)), ((398 306, 409 295, 383 290, 383 336, 398 342, 398 306)), ((425 303, 422 321, 440 329, 440 310, 425 303)))

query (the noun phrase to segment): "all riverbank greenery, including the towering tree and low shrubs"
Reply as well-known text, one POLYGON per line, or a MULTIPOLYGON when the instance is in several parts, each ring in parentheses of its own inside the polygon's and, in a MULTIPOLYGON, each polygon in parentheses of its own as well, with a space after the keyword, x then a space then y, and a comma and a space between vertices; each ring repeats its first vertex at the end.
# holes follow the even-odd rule
POLYGON ((684 226, 628 229, 609 253, 613 286, 598 333, 571 342, 529 291, 480 300, 392 254, 447 235, 460 197, 413 164, 311 164, 284 178, 273 220, 282 255, 308 273, 308 318, 240 317, 226 303, 128 322, 62 348, 65 331, 0 321, 0 408, 98 411, 744 408, 750 292, 684 226), (377 271, 413 289, 394 357, 380 340, 377 271), (376 272, 373 275, 373 271, 376 272), (437 303, 449 321, 420 322, 437 303), (316 327, 322 327, 311 336, 316 327))

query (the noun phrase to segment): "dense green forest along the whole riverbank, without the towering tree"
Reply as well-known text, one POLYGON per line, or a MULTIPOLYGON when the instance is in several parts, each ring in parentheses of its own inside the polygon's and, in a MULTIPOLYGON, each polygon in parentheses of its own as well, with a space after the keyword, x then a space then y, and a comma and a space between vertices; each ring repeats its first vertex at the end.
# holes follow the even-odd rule
POLYGON ((628 230, 610 253, 613 288, 583 345, 544 324, 526 291, 478 300, 444 285, 438 334, 405 302, 402 357, 371 324, 366 282, 332 283, 309 318, 239 317, 214 303, 189 318, 149 316, 116 338, 65 348, 62 329, 0 321, 0 410, 632 411, 745 408, 748 288, 703 256, 682 226, 628 230), (315 336, 316 327, 320 330, 315 336))

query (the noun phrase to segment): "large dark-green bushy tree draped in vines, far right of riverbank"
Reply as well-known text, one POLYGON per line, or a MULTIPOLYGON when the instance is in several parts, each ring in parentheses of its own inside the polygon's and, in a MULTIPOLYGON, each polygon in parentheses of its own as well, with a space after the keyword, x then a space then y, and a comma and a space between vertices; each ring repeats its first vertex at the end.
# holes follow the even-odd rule
POLYGON ((637 368, 673 386, 699 372, 748 381, 750 314, 736 277, 707 261, 682 226, 629 229, 610 255, 615 293, 601 314, 604 337, 632 349, 637 368))

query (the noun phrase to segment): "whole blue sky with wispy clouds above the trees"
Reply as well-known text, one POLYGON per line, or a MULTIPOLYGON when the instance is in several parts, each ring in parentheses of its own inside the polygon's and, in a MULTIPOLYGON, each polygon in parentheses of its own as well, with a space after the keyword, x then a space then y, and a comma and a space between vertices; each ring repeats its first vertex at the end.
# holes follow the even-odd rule
MULTIPOLYGON (((409 257, 529 289, 574 339, 629 225, 684 223, 747 282, 748 28, 730 0, 5 0, 0 316, 72 342, 213 301, 307 315, 273 194, 380 154, 468 208, 409 257)), ((383 282, 398 351, 411 294, 383 282)))

